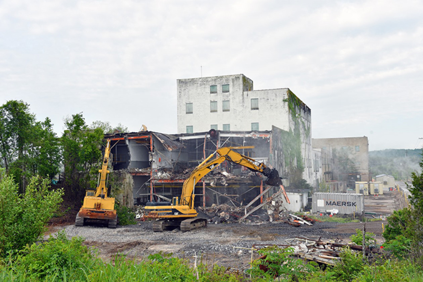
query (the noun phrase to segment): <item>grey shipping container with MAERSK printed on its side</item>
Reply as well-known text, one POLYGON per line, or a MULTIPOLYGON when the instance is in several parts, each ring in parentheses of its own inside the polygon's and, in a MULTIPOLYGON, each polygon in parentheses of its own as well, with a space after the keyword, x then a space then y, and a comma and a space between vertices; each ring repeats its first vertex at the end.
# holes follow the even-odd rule
POLYGON ((338 214, 361 214, 364 211, 363 194, 346 193, 314 193, 312 195, 312 212, 330 212, 338 210, 338 214))

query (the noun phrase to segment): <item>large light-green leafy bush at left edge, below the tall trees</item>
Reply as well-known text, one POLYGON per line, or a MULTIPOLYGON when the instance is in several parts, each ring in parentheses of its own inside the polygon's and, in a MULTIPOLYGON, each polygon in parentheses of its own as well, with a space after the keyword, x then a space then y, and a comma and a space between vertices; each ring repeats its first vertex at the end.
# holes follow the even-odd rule
POLYGON ((25 194, 0 170, 0 256, 38 240, 62 201, 61 189, 49 191, 49 180, 33 177, 25 194))

